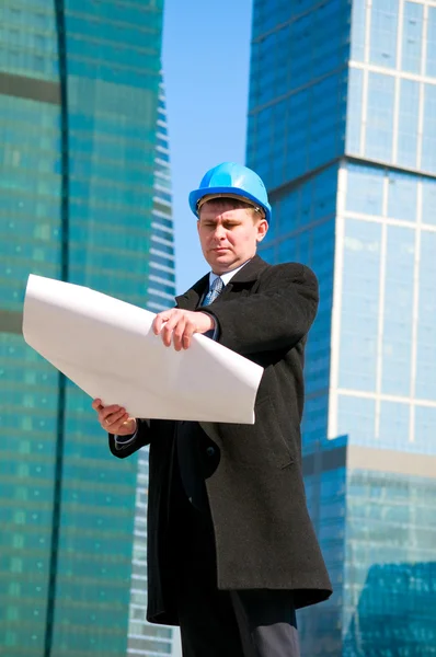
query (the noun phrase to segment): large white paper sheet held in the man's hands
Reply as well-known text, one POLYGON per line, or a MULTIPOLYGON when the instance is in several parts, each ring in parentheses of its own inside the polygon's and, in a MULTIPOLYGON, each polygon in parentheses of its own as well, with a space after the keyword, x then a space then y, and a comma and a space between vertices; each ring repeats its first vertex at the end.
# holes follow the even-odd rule
POLYGON ((92 399, 134 417, 254 424, 263 368, 204 335, 165 347, 154 314, 90 288, 31 275, 26 343, 92 399))

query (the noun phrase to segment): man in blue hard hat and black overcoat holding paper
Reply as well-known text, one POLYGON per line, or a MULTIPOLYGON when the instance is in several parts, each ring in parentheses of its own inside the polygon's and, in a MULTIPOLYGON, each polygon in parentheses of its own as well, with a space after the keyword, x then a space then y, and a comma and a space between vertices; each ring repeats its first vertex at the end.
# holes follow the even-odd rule
POLYGON ((148 620, 180 624, 184 657, 297 657, 295 610, 331 584, 301 473, 303 355, 314 274, 256 255, 271 220, 261 178, 226 162, 190 195, 211 273, 159 313, 156 335, 203 333, 264 368, 255 424, 135 419, 93 402, 118 458, 150 445, 148 620))

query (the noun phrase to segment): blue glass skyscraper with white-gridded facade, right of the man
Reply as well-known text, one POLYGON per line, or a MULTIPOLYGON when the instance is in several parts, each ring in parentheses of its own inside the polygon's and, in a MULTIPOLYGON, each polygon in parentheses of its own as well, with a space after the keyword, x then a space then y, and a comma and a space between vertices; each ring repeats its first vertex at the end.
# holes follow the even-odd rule
POLYGON ((303 471, 335 592, 299 614, 302 652, 433 654, 434 3, 255 0, 248 164, 273 204, 261 253, 320 283, 303 471))

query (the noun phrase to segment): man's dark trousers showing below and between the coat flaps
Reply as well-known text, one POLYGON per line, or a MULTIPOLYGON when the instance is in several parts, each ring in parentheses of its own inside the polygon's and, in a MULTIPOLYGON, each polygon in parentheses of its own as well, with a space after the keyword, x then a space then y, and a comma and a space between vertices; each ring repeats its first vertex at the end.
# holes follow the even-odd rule
POLYGON ((187 503, 179 520, 183 532, 177 540, 176 588, 183 657, 300 657, 291 592, 218 590, 210 517, 187 503))

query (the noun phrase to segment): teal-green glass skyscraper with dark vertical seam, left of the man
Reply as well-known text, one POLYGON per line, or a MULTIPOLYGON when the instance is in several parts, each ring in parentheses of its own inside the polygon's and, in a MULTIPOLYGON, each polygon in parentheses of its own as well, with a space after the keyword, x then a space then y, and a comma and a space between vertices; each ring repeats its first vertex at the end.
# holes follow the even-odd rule
POLYGON ((161 26, 160 0, 0 8, 4 657, 127 653, 138 463, 108 453, 90 400, 25 346, 21 312, 30 273, 149 308, 173 291, 161 26))

